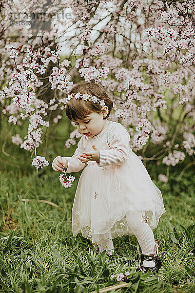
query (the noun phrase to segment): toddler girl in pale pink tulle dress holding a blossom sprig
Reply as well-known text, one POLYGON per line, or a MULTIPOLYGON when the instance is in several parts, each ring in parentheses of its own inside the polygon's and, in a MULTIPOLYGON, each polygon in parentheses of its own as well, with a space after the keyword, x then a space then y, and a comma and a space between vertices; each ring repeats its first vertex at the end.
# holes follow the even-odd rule
POLYGON ((165 212, 161 191, 129 145, 120 123, 108 121, 113 102, 94 82, 79 82, 66 99, 66 116, 83 134, 72 157, 56 157, 52 167, 82 171, 72 208, 73 235, 81 232, 97 251, 114 253, 113 238, 136 235, 142 272, 158 272, 160 258, 152 229, 165 212))

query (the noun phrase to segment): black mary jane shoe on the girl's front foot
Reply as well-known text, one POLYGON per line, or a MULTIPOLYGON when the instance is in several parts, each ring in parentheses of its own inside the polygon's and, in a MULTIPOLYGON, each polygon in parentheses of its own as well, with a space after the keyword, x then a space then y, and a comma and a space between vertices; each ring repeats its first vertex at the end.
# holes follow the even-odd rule
POLYGON ((139 269, 141 272, 158 272, 161 267, 161 260, 158 253, 158 244, 155 241, 155 254, 141 254, 141 264, 139 269))

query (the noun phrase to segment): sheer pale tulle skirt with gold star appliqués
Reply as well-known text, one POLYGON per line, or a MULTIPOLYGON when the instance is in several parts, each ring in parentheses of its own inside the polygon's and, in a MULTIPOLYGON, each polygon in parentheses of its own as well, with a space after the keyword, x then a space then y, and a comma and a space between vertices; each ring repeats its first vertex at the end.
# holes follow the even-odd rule
POLYGON ((156 228, 166 211, 162 194, 131 148, 121 165, 87 164, 78 180, 72 208, 73 236, 80 232, 94 243, 102 236, 113 239, 134 235, 125 215, 135 211, 143 211, 141 221, 156 228))

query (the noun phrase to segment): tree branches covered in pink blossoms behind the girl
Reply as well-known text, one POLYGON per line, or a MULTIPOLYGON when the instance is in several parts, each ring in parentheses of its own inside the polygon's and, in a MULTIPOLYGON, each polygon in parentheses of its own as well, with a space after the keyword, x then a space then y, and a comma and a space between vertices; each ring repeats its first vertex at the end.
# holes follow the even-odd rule
MULTIPOLYGON (((17 7, 3 0, 0 5, 0 112, 13 125, 28 120, 26 136, 16 133, 12 142, 35 155, 37 169, 48 165, 37 156, 45 132, 60 121, 67 93, 79 80, 106 88, 114 103, 109 118, 128 129, 131 148, 143 162, 167 166, 159 180, 166 183, 170 167, 187 158, 185 169, 195 164, 194 0, 19 0, 17 7), (52 16, 65 8, 71 9, 71 21, 57 24, 71 51, 63 60, 52 16), (16 36, 11 16, 18 11, 29 18, 27 25, 20 22, 16 36), (157 150, 152 157, 144 156, 148 146, 157 150)), ((75 129, 65 146, 80 137, 75 129)))

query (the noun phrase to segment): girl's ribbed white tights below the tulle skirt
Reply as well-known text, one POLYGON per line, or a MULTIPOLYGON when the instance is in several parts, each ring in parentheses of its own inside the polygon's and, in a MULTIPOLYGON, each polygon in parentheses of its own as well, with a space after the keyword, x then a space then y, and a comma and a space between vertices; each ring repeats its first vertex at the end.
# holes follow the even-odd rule
MULTIPOLYGON (((142 222, 144 211, 127 212, 126 220, 130 230, 136 235, 137 241, 141 247, 143 254, 155 253, 155 237, 150 226, 142 222)), ((112 239, 102 238, 99 245, 99 251, 106 250, 106 254, 114 253, 114 246, 112 239)))

